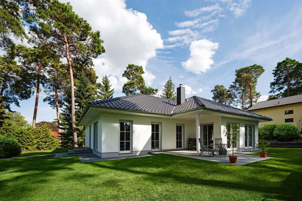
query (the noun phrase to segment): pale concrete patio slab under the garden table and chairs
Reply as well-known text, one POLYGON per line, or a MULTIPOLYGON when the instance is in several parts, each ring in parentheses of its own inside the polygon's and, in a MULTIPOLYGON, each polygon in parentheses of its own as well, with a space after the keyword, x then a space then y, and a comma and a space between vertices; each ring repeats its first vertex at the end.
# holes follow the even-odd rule
MULTIPOLYGON (((192 159, 199 159, 199 160, 206 160, 206 161, 212 161, 212 162, 218 162, 218 163, 225 163, 230 165, 246 165, 253 162, 258 162, 262 160, 272 159, 273 157, 266 157, 266 158, 260 158, 259 156, 255 155, 247 155, 247 154, 239 154, 236 153, 236 156, 238 156, 237 163, 230 163, 229 157, 223 155, 215 155, 214 157, 210 157, 210 155, 202 154, 201 156, 198 156, 196 151, 190 151, 190 150, 179 150, 179 151, 166 151, 166 152, 153 152, 153 154, 170 154, 170 155, 177 155, 177 156, 183 156, 188 157, 192 159)), ((234 154, 235 155, 235 154, 234 154)))

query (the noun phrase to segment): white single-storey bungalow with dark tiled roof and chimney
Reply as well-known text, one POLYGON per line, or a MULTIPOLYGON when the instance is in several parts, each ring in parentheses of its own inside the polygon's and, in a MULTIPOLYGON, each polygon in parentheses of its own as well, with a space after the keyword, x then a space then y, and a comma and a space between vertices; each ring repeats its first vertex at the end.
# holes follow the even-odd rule
POLYGON ((254 149, 258 123, 264 121, 271 118, 198 96, 186 99, 185 87, 180 85, 177 101, 135 94, 91 102, 78 124, 86 128, 85 146, 108 158, 188 149, 192 138, 197 147, 198 138, 209 146, 215 138, 229 144, 226 124, 239 125, 237 151, 254 149))

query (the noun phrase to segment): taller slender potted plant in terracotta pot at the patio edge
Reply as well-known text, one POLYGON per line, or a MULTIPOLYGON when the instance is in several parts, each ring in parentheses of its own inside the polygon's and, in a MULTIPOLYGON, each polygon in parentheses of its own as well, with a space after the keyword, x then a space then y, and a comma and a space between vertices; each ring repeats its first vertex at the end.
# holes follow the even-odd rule
POLYGON ((229 155, 230 163, 236 163, 238 156, 234 156, 234 145, 237 143, 237 139, 240 135, 239 133, 239 126, 237 124, 226 125, 225 136, 228 140, 230 140, 232 146, 232 155, 229 155), (228 130, 230 130, 228 132, 228 130))

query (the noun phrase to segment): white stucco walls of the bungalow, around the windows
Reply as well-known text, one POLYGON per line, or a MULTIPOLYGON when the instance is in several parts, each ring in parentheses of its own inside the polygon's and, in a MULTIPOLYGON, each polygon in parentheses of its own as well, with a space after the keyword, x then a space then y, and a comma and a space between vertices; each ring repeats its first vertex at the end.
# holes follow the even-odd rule
MULTIPOLYGON (((98 121, 98 152, 101 157, 119 156, 119 122, 127 120, 132 122, 132 153, 130 155, 146 154, 151 150, 151 123, 161 124, 161 150, 176 149, 176 124, 184 125, 183 148, 188 147, 188 138, 196 138, 196 115, 191 119, 159 118, 141 115, 129 115, 120 113, 102 112, 87 123, 85 133, 85 145, 93 149, 93 124, 98 121), (89 139, 89 125, 91 125, 91 139, 89 139)), ((239 118, 221 117, 219 115, 200 115, 200 124, 213 123, 214 138, 224 136, 227 123, 240 125, 239 148, 245 148, 245 125, 253 125, 255 128, 255 142, 258 140, 258 121, 250 121, 239 118)))

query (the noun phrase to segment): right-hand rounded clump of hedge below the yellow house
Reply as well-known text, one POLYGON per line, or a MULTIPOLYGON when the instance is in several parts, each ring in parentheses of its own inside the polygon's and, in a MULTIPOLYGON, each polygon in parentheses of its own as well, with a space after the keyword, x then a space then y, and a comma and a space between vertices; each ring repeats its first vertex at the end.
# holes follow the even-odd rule
POLYGON ((298 127, 294 124, 277 124, 274 136, 278 141, 290 141, 301 137, 298 127))

